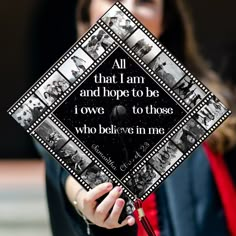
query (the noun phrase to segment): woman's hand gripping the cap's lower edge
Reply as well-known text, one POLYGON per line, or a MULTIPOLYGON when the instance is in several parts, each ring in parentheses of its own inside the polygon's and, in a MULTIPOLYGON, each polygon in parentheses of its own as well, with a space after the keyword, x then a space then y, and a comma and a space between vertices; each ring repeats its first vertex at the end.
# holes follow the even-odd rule
POLYGON ((78 210, 95 225, 113 229, 127 224, 132 226, 135 223, 135 219, 132 216, 128 216, 121 224, 118 223, 125 205, 125 201, 119 198, 122 194, 122 188, 113 188, 111 183, 103 183, 87 192, 72 176, 67 178, 65 188, 70 202, 73 203, 76 200, 78 210), (78 191, 79 193, 77 194, 78 191), (109 194, 105 199, 98 204, 96 200, 108 192, 109 194), (76 195, 77 199, 75 199, 76 195))

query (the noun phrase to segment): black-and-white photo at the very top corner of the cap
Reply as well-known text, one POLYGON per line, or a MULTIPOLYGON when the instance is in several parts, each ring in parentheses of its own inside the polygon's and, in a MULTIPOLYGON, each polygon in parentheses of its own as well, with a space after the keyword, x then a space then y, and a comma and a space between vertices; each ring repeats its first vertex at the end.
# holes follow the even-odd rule
POLYGON ((128 18, 117 6, 113 6, 102 21, 121 39, 127 38, 136 28, 132 20, 128 18))

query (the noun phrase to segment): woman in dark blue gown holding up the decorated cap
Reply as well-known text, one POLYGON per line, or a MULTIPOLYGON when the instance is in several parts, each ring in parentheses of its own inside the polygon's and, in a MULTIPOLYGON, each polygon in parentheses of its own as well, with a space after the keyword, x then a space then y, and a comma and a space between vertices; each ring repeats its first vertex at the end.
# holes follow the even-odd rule
MULTIPOLYGON (((111 0, 79 1, 78 32, 83 34, 88 27, 114 3, 111 0)), ((191 72, 208 84, 218 96, 231 105, 230 91, 224 87, 210 71, 198 54, 193 32, 185 7, 180 0, 121 1, 191 72), (214 85, 214 86, 213 86, 214 85), (222 94, 226 94, 224 96, 222 94)), ((192 157, 171 175, 165 183, 152 194, 147 208, 151 208, 152 224, 158 225, 160 235, 194 236, 216 235, 227 236, 232 232, 232 225, 225 217, 215 179, 210 170, 206 153, 212 150, 226 152, 235 145, 235 117, 228 119, 209 139, 212 149, 197 149, 192 157), (234 132, 233 132, 234 131, 234 132), (217 145, 215 145, 217 144, 217 145), (222 145, 223 144, 223 145, 222 145), (157 203, 157 204, 156 204, 157 203), (158 215, 154 208, 158 206, 158 215)), ((46 154, 43 154, 46 155, 46 154)), ((133 217, 118 223, 124 207, 124 200, 119 198, 121 188, 110 183, 96 186, 86 192, 54 160, 47 158, 47 189, 51 224, 54 236, 88 235, 83 218, 93 224, 91 235, 137 235, 133 217), (60 183, 58 182, 60 179, 60 183), (114 188, 113 188, 114 187, 114 188), (97 204, 97 199, 107 194, 97 204), (56 199, 55 199, 56 197, 56 199), (83 217, 77 214, 76 208, 83 217)), ((148 212, 149 209, 147 209, 148 212)), ((156 232, 159 233, 156 229, 156 232)), ((139 231, 141 232, 141 231, 139 231)), ((144 233, 139 235, 144 236, 144 233)))

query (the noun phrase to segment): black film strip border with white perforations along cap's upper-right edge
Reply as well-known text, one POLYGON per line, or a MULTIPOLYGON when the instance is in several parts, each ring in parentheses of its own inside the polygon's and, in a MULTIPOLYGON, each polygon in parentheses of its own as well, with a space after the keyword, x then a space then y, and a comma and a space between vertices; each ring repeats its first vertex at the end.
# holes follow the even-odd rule
MULTIPOLYGON (((163 54, 163 55, 167 55, 167 57, 173 61, 173 63, 175 63, 176 66, 178 66, 183 72, 183 76, 180 77, 180 79, 176 82, 176 84, 178 84, 180 81, 183 81, 186 77, 188 77, 189 80, 192 80, 195 85, 199 88, 199 90, 201 90, 202 93, 208 94, 210 91, 206 88, 205 85, 203 85, 203 83, 201 83, 198 79, 196 79, 122 4, 120 4, 119 2, 116 2, 116 4, 110 8, 108 10, 108 12, 106 12, 104 14, 103 17, 101 17, 101 19, 98 20, 98 24, 104 29, 106 30, 107 33, 109 33, 109 35, 111 37, 113 37, 113 39, 119 43, 120 46, 122 46, 123 49, 125 49, 126 52, 128 52, 133 59, 136 60, 136 62, 139 63, 139 65, 141 65, 143 67, 143 69, 146 70, 146 72, 148 72, 149 74, 151 74, 157 81, 158 83, 162 86, 162 88, 164 88, 166 90, 166 92, 168 92, 169 94, 171 94, 172 97, 174 97, 187 111, 190 111, 193 108, 192 104, 188 104, 186 103, 186 101, 183 99, 183 97, 181 97, 178 93, 173 92, 172 91, 172 87, 170 86, 170 84, 164 82, 161 78, 160 75, 158 75, 158 73, 155 73, 155 71, 150 67, 150 64, 147 65, 147 63, 145 61, 143 61, 139 55, 137 55, 137 53, 134 53, 130 47, 130 45, 128 45, 127 40, 129 40, 132 36, 134 36, 134 34, 141 30, 143 35, 145 37, 148 37, 149 40, 151 40, 153 42, 153 44, 158 48, 159 52, 156 53, 155 58, 158 58, 159 55, 163 54), (122 11, 126 17, 131 20, 134 24, 135 24, 135 29, 132 31, 132 33, 130 33, 130 35, 126 38, 123 38, 117 33, 118 31, 116 30, 111 30, 110 27, 107 26, 107 24, 102 20, 104 19, 104 16, 106 16, 109 12, 112 11, 113 8, 118 8, 120 11, 122 11)), ((137 38, 137 37, 136 37, 137 38)), ((153 59, 155 60, 155 59, 153 59)), ((152 61, 150 62, 152 63, 152 61)), ((201 98, 203 99, 204 96, 201 98)))

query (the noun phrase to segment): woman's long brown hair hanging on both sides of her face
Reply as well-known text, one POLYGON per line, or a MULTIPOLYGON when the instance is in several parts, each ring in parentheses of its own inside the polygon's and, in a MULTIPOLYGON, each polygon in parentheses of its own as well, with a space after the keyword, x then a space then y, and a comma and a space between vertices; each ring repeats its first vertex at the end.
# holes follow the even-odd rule
MULTIPOLYGON (((77 21, 90 26, 89 8, 92 0, 79 0, 77 6, 77 21)), ((197 42, 189 11, 184 0, 163 0, 163 28, 160 42, 173 53, 196 77, 206 83, 208 87, 223 98, 231 109, 235 108, 235 96, 233 88, 227 87, 221 82, 215 72, 213 72, 199 53, 197 42)), ((236 108, 235 108, 236 110, 236 108)), ((233 110, 233 113, 236 112, 233 110)), ((209 144, 216 152, 224 152, 236 144, 236 117, 231 115, 224 122, 229 126, 228 130, 220 130, 221 135, 210 136, 209 144), (228 133, 227 133, 228 132, 228 133), (230 133, 230 134, 229 134, 230 133), (215 140, 217 137, 217 140, 215 140), (215 145, 219 143, 219 145, 215 145), (222 144, 222 145, 221 145, 222 144), (223 147, 218 149, 218 147, 223 147)), ((222 127, 222 126, 221 126, 222 127)), ((217 131, 216 131, 217 132, 217 131)))

